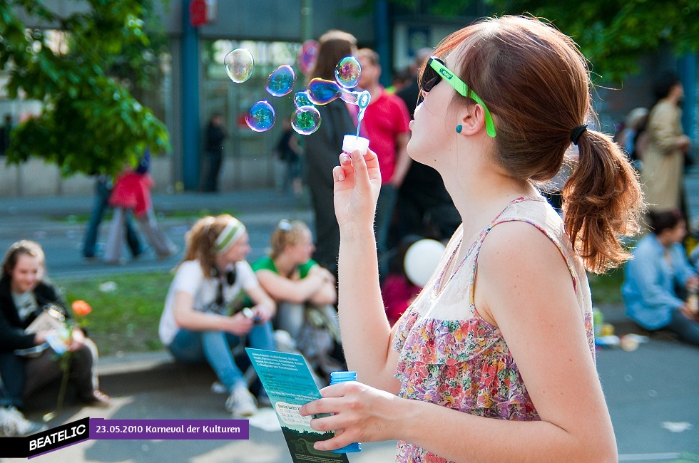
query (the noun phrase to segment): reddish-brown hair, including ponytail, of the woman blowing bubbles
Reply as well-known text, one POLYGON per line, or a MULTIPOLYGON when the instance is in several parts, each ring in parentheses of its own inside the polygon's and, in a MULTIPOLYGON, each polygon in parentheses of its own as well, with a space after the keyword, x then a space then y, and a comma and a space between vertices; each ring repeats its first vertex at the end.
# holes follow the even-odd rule
MULTIPOLYGON (((571 147, 571 129, 596 117, 586 59, 573 40, 538 19, 503 16, 452 33, 435 54, 452 51, 454 71, 493 115, 496 162, 516 179, 551 180, 571 147)), ((475 102, 456 95, 454 104, 475 102)), ((608 135, 588 128, 578 152, 563 187, 563 221, 586 268, 598 273, 628 259, 620 239, 638 232, 643 195, 608 135)))

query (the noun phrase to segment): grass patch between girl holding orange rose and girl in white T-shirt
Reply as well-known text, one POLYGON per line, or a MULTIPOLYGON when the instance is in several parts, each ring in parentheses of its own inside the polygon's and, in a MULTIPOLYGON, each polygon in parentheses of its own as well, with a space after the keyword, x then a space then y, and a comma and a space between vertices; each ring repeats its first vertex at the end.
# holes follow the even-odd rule
POLYGON ((100 355, 117 355, 163 348, 158 338, 158 323, 172 279, 173 274, 162 271, 90 278, 56 277, 53 281, 65 289, 63 298, 68 305, 83 299, 92 306, 92 313, 83 318, 83 324, 98 345, 100 355))

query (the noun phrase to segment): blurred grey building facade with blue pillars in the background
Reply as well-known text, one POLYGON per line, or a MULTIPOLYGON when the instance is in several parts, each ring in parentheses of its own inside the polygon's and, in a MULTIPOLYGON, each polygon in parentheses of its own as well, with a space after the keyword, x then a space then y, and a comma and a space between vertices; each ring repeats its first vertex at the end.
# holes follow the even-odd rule
MULTIPOLYGON (((157 0, 156 0, 157 1, 157 0)), ((69 14, 80 9, 80 2, 46 0, 54 11, 69 14)), ((441 38, 480 16, 489 14, 484 1, 476 1, 454 19, 438 19, 427 13, 428 1, 404 9, 385 0, 374 2, 372 11, 357 12, 362 0, 169 0, 158 4, 155 19, 168 37, 168 51, 160 57, 161 78, 153 88, 138 93, 141 103, 152 108, 170 131, 173 151, 155 157, 157 188, 161 191, 197 189, 203 157, 203 128, 212 113, 221 113, 230 135, 225 140, 225 161, 221 189, 273 187, 279 178, 280 163, 273 153, 281 123, 267 132, 253 132, 245 124, 245 113, 257 100, 268 100, 276 110, 277 122, 294 109, 292 97, 302 90, 305 78, 297 66, 302 43, 317 38, 331 28, 353 33, 359 46, 374 48, 382 57, 384 85, 392 71, 412 63, 414 52, 435 46, 441 38), (194 26, 190 14, 193 1, 209 9, 208 21, 194 26), (255 58, 255 70, 245 83, 233 83, 225 73, 223 58, 233 48, 247 48, 255 58), (282 64, 297 71, 295 90, 287 97, 274 98, 265 92, 267 76, 282 64)), ((197 21, 194 21, 195 23, 197 21)), ((31 19, 28 20, 31 25, 31 19)), ((649 58, 644 67, 658 69, 667 58, 649 58)), ((685 76, 697 80, 697 57, 685 63, 685 76), (692 76, 693 73, 693 76, 692 76)), ((671 64, 671 63, 670 63, 671 64)), ((0 115, 11 114, 15 121, 39 113, 39 102, 9 100, 4 93, 0 71, 0 115)), ((685 85, 687 88, 687 85, 685 85)), ((690 113, 699 105, 690 94, 690 113)), ((607 131, 623 120, 631 108, 650 104, 648 74, 628 79, 623 90, 602 90, 596 96, 601 125, 607 131)), ((687 111, 685 110, 685 113, 687 111)), ((696 124, 690 121, 688 133, 697 140, 696 124)), ((4 162, 3 162, 4 164, 4 162)), ((91 179, 81 176, 61 178, 55 166, 41 160, 26 165, 0 167, 0 197, 13 195, 76 194, 90 192, 91 179), (28 182, 36 177, 45 182, 28 182)))

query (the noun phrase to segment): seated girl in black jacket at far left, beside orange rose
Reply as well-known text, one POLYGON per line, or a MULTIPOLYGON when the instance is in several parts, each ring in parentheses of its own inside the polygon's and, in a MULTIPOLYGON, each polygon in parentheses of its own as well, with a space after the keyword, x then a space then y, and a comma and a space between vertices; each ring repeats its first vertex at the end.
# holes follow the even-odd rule
MULTIPOLYGON (((26 331, 44 311, 71 318, 58 289, 45 274, 44 250, 39 243, 21 240, 9 247, 0 277, 0 377, 8 405, 19 410, 24 409, 32 392, 63 374, 58 355, 47 344, 56 330, 26 331)), ((68 384, 77 399, 87 405, 107 405, 108 395, 98 388, 95 343, 76 327, 71 330, 67 348, 72 352, 68 384)))

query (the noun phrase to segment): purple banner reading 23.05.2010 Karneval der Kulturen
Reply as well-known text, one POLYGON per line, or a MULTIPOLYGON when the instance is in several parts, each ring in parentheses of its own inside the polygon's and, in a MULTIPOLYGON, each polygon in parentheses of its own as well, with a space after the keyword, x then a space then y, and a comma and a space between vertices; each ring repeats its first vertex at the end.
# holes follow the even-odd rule
POLYGON ((105 420, 90 418, 90 439, 213 439, 250 438, 248 420, 105 420))

